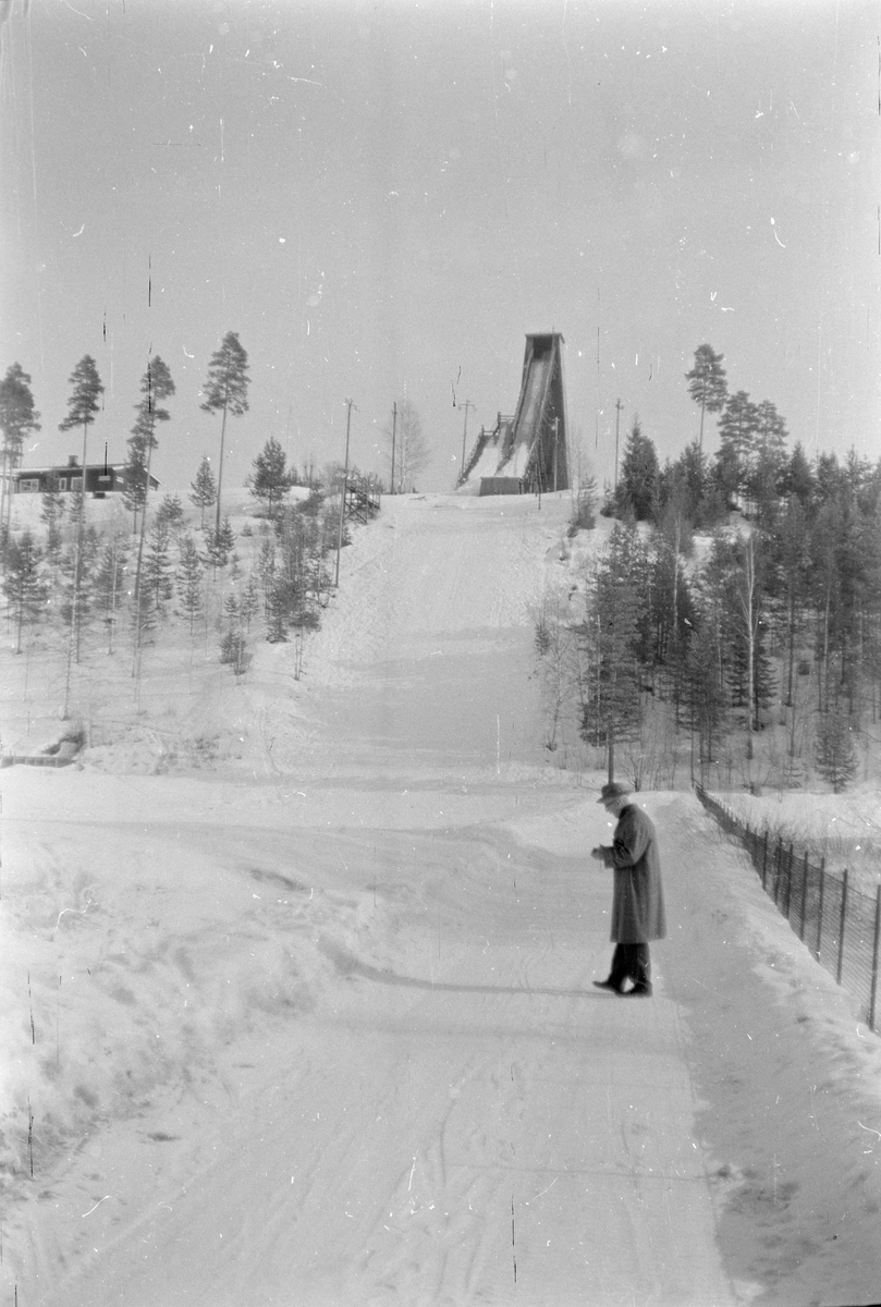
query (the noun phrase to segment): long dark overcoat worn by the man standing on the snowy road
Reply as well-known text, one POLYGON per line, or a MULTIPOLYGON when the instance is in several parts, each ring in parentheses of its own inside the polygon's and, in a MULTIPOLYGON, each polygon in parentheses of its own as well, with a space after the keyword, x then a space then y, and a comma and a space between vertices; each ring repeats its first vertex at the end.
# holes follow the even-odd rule
POLYGON ((612 940, 647 944, 667 935, 657 836, 650 817, 627 804, 614 827, 607 863, 614 868, 612 940))

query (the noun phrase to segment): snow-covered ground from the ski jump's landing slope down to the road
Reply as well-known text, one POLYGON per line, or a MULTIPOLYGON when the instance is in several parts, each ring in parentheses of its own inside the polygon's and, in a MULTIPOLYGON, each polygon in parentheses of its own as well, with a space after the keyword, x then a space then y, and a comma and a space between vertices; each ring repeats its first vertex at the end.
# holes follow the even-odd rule
POLYGON ((591 984, 603 778, 548 766, 529 623, 569 512, 386 499, 301 681, 199 681, 239 757, 0 775, 4 1307, 877 1300, 881 1042, 693 796, 639 800, 655 997, 591 984))

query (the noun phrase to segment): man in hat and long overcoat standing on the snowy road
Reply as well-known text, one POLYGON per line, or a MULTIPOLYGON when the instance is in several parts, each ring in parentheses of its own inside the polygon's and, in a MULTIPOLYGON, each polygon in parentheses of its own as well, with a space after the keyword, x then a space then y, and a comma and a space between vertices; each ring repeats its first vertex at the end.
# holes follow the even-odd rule
POLYGON ((612 941, 616 950, 608 979, 593 984, 626 999, 648 997, 648 941, 663 940, 667 935, 657 836, 642 808, 630 802, 626 786, 614 780, 603 786, 599 802, 618 819, 612 844, 591 850, 591 857, 614 870, 612 941), (627 979, 633 980, 631 989, 623 988, 627 979))

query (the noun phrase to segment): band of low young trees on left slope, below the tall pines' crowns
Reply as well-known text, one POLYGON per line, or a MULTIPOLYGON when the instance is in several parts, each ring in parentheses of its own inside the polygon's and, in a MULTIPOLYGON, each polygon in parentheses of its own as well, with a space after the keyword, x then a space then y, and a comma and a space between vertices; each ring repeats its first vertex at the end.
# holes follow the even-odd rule
POLYGON ((122 506, 115 514, 110 506, 101 528, 89 523, 80 533, 78 499, 65 510, 60 498, 42 497, 44 532, 26 527, 0 544, 17 652, 37 625, 68 631, 68 664, 80 661, 88 640, 112 654, 122 631, 131 640, 132 676, 140 676, 145 644, 176 617, 193 642, 218 631, 221 661, 237 673, 247 668, 259 630, 271 642, 293 638, 298 672, 302 638, 329 599, 328 555, 339 544, 339 508, 324 490, 278 507, 256 529, 246 524, 238 536, 226 516, 220 529, 188 529, 178 497, 167 495, 142 549, 122 506))

